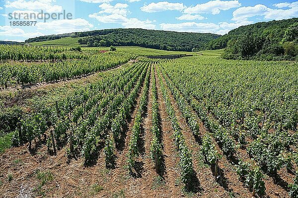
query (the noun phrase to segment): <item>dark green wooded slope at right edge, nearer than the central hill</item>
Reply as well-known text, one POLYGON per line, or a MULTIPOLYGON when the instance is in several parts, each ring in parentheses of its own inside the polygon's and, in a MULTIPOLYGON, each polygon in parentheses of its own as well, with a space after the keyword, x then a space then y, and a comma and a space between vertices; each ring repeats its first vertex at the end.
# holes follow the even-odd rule
POLYGON ((298 18, 242 26, 202 49, 224 48, 226 59, 298 59, 298 18))

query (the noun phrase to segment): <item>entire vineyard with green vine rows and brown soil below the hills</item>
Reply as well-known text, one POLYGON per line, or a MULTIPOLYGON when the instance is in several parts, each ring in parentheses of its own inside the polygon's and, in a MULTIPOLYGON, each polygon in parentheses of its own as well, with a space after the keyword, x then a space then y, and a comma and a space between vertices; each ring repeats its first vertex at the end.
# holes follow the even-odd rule
POLYGON ((4 197, 298 197, 296 62, 10 48, 0 47, 4 197))

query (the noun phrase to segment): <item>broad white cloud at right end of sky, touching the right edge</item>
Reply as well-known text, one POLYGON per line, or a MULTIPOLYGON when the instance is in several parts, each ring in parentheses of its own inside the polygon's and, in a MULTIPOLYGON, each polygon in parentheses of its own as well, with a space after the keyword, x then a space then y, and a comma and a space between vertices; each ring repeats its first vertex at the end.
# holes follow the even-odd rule
POLYGON ((278 8, 289 9, 272 9, 262 4, 255 6, 240 7, 233 12, 233 21, 247 21, 248 18, 254 16, 264 16, 266 20, 281 20, 289 19, 298 16, 298 1, 293 3, 278 3, 274 4, 278 8))

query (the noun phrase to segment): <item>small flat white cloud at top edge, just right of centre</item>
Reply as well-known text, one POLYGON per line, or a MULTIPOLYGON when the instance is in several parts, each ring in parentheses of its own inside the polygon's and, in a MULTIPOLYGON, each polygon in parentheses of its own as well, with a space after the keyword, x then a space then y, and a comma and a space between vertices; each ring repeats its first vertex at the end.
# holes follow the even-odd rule
POLYGON ((150 3, 149 5, 144 5, 141 10, 144 12, 160 12, 165 10, 179 10, 184 9, 183 3, 170 3, 168 1, 162 1, 157 3, 150 3))

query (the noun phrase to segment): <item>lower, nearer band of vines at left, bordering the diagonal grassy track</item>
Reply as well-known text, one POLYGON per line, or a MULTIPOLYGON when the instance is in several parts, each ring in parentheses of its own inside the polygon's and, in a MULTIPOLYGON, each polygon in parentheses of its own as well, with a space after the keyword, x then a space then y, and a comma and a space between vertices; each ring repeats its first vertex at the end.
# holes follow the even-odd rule
POLYGON ((107 52, 88 56, 87 59, 63 60, 58 62, 5 62, 0 63, 0 86, 58 80, 71 80, 75 77, 111 69, 135 59, 136 55, 123 52, 107 52))

